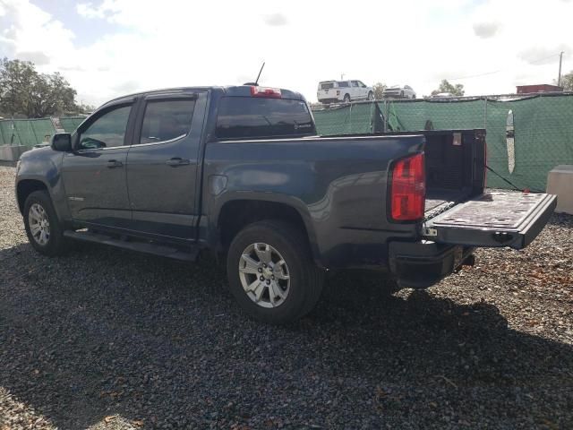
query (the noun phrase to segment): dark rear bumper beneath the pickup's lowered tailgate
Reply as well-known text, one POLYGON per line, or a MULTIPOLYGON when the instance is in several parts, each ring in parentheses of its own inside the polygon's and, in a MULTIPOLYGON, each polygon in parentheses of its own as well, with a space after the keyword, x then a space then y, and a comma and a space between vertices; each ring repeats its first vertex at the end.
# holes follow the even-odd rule
POLYGON ((456 271, 473 252, 473 247, 432 241, 391 242, 390 272, 401 288, 428 288, 456 271))

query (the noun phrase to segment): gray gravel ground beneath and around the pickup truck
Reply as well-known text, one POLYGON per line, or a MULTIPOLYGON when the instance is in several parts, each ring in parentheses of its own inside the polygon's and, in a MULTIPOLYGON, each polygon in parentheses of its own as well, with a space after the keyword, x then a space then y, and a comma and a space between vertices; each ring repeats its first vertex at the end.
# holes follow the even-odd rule
POLYGON ((0 167, 0 429, 573 428, 573 217, 427 291, 329 280, 286 327, 224 272, 28 245, 0 167))

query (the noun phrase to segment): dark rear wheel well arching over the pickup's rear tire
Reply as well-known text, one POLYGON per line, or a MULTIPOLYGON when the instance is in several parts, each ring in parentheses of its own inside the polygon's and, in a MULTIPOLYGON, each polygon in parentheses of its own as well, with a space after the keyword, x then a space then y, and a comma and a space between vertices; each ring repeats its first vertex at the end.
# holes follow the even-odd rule
POLYGON ((300 228, 308 238, 303 217, 292 206, 278 202, 264 202, 252 200, 235 200, 227 202, 221 208, 218 216, 218 231, 223 249, 228 245, 245 226, 263 219, 280 219, 296 228, 300 228))

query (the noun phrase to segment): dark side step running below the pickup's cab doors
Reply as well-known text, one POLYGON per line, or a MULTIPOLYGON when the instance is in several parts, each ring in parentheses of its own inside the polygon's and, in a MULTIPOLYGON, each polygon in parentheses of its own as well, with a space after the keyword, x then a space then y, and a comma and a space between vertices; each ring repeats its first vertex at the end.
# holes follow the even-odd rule
POLYGON ((124 239, 115 239, 114 237, 102 235, 100 233, 93 233, 91 231, 65 230, 64 236, 86 242, 112 245, 118 248, 128 249, 130 251, 138 251, 140 253, 174 258, 175 260, 183 260, 184 262, 194 262, 197 260, 197 256, 199 255, 198 247, 190 247, 188 250, 182 250, 170 245, 158 245, 150 242, 137 241, 130 242, 124 239))

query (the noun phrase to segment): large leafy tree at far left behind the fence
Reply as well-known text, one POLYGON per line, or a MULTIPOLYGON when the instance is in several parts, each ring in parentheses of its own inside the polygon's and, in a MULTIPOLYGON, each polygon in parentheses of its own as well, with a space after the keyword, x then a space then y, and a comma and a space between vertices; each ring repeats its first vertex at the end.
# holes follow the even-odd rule
POLYGON ((0 60, 0 111, 29 118, 76 111, 76 90, 60 73, 38 73, 29 61, 0 60))

